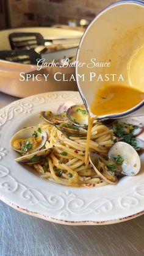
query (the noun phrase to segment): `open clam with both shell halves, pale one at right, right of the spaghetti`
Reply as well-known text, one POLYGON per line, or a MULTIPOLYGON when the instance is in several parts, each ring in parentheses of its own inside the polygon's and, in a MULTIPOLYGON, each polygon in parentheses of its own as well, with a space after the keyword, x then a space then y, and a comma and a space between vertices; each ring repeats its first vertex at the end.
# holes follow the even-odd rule
POLYGON ((117 176, 134 176, 140 170, 140 157, 135 149, 125 143, 117 142, 109 150, 106 160, 96 152, 89 152, 90 163, 95 172, 110 184, 117 184, 117 176))

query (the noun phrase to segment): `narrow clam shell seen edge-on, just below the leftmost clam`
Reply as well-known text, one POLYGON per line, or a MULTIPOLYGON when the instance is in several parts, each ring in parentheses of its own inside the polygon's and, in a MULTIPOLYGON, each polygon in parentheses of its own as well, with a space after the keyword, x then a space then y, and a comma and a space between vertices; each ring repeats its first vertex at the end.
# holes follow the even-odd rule
POLYGON ((15 161, 23 164, 36 164, 39 163, 42 159, 46 158, 51 152, 53 148, 45 148, 43 150, 39 150, 37 152, 33 152, 29 155, 21 156, 20 158, 16 158, 15 161))

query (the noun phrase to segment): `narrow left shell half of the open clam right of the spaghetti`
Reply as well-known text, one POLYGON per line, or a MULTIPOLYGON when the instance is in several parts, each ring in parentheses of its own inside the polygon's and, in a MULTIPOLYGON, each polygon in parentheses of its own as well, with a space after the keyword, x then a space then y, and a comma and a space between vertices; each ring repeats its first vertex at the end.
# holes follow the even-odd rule
MULTIPOLYGON (((89 159, 96 174, 107 181, 107 183, 112 185, 117 184, 117 176, 115 175, 115 172, 109 168, 110 164, 112 166, 113 162, 111 163, 110 161, 105 160, 95 152, 89 152, 89 159)), ((117 169, 115 170, 117 171, 117 169)))

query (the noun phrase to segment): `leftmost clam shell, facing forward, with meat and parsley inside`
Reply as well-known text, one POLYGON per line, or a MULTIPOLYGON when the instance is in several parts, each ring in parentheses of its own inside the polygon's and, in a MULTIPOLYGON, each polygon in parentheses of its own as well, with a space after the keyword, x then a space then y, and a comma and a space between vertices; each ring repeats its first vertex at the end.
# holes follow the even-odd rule
POLYGON ((21 155, 26 155, 40 150, 45 145, 46 139, 45 130, 31 126, 15 133, 10 140, 10 146, 21 155))

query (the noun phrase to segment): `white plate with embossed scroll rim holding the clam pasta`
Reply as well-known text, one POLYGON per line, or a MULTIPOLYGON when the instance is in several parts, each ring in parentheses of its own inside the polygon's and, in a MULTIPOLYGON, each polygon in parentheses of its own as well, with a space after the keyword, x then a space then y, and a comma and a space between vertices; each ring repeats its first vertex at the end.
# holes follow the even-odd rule
POLYGON ((0 110, 1 200, 24 213, 71 225, 98 225, 124 221, 143 214, 144 154, 142 170, 124 177, 118 185, 101 188, 68 188, 38 177, 14 161, 9 146, 12 135, 24 126, 37 125, 40 110, 57 111, 59 104, 81 103, 78 92, 50 92, 15 101, 0 110))

